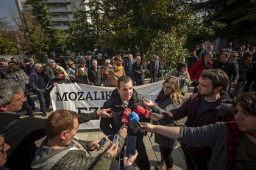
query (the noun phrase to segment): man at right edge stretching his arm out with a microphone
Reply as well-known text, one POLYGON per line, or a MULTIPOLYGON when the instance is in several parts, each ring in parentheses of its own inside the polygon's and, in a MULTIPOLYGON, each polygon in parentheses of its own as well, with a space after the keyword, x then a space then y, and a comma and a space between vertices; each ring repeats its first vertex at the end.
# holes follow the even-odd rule
MULTIPOLYGON (((148 132, 194 147, 212 147, 209 169, 255 169, 256 93, 240 95, 232 101, 235 121, 216 122, 203 127, 166 127, 142 122, 148 132)), ((154 114, 153 114, 154 115, 154 114)))

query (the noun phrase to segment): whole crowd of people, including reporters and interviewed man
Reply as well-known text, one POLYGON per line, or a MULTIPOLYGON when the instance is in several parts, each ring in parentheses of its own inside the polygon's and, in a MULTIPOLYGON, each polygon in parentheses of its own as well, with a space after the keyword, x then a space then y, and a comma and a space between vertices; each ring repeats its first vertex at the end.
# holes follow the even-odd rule
POLYGON ((255 47, 248 46, 232 51, 228 42, 218 61, 213 46, 205 49, 202 44, 198 51, 191 51, 188 64, 178 62, 164 76, 154 101, 143 99, 133 86, 144 84, 148 65, 152 68, 151 82, 157 81, 156 54, 150 63, 132 54, 124 62, 121 56, 107 53, 80 59, 71 53, 67 63, 57 57, 48 59, 44 67, 33 58, 25 64, 15 58, 8 64, 1 61, 0 169, 134 169, 136 164, 138 169, 148 170, 149 156, 143 143, 146 132, 154 132, 160 147, 161 160, 154 169, 164 165, 168 170, 174 168, 171 153, 177 141, 189 170, 255 169, 256 93, 247 92, 252 84, 252 91, 256 91, 256 56, 255 47), (60 109, 47 119, 33 116, 35 103, 29 90, 38 96, 40 111, 46 116, 52 111, 49 92, 53 86, 76 82, 116 88, 101 111, 77 114, 60 109), (193 95, 183 101, 190 84, 193 95), (243 94, 239 94, 242 86, 243 94), (124 125, 124 109, 136 111, 138 106, 151 116, 138 115, 141 127, 132 121, 124 125), (16 113, 21 108, 29 117, 16 113), (112 140, 118 134, 119 138, 93 158, 90 152, 99 148, 100 138, 83 141, 75 135, 80 123, 97 117, 101 117, 99 127, 104 135, 112 140), (185 125, 179 125, 183 117, 187 117, 185 125), (122 154, 127 136, 136 136, 136 151, 131 157, 122 154), (124 161, 119 166, 121 159, 124 161))

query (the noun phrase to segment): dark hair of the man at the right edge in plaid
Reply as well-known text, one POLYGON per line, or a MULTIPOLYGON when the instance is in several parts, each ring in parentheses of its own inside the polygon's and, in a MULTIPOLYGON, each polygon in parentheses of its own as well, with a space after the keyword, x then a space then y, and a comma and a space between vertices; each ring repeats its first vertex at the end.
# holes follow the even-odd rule
POLYGON ((240 106, 248 114, 256 116, 256 92, 244 93, 232 100, 232 106, 240 106))

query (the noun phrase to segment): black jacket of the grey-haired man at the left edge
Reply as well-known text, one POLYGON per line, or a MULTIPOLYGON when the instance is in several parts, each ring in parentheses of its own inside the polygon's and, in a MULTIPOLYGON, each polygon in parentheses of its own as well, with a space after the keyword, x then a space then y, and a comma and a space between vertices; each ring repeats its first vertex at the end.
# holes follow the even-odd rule
POLYGON ((45 136, 45 121, 35 117, 20 119, 15 112, 0 112, 0 134, 4 133, 5 143, 11 146, 7 151, 7 168, 29 169, 32 162, 29 150, 35 141, 45 136))

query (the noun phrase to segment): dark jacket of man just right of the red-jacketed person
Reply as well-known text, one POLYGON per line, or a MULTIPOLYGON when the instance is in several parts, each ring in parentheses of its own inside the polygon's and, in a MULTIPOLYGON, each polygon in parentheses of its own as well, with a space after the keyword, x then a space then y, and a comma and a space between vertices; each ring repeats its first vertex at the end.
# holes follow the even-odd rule
POLYGON ((224 72, 226 72, 229 76, 230 81, 237 81, 239 78, 238 67, 234 64, 234 62, 230 61, 230 59, 226 63, 216 62, 213 67, 224 70, 224 72))

